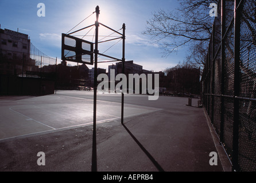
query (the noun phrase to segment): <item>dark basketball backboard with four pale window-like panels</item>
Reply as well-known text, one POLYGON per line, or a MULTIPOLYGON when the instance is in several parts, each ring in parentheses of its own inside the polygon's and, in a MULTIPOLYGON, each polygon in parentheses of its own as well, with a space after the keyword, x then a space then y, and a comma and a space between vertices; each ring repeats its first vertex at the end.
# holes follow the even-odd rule
POLYGON ((62 34, 61 59, 78 63, 94 63, 94 43, 62 34))

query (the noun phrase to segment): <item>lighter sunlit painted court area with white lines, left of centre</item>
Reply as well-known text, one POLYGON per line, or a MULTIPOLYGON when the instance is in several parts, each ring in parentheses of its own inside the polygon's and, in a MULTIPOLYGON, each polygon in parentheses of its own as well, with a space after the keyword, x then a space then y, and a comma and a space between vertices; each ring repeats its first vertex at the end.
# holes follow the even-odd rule
MULTIPOLYGON (((92 92, 84 93, 93 96, 92 92)), ((41 97, 0 97, 0 140, 91 125, 93 100, 52 94, 41 97)), ((124 117, 161 110, 125 104, 124 117)), ((121 102, 97 100, 97 123, 121 119, 121 102)))

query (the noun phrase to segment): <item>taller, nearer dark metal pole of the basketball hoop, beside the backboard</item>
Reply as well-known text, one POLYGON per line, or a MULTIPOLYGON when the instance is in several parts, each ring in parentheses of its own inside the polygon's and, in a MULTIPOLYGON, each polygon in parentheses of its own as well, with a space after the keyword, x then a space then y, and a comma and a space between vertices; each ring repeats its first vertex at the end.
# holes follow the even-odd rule
POLYGON ((99 37, 99 6, 96 7, 96 22, 95 22, 95 63, 94 63, 94 124, 92 134, 92 172, 97 171, 97 148, 96 148, 96 105, 97 105, 97 76, 98 76, 98 37, 99 37))

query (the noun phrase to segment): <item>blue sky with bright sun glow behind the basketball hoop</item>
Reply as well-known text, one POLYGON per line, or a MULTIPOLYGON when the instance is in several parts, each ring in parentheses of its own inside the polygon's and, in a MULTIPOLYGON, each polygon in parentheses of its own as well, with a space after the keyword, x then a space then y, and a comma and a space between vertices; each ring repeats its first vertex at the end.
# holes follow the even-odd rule
MULTIPOLYGON (((179 5, 177 0, 0 0, 1 29, 16 31, 18 28, 21 33, 29 35, 33 45, 40 51, 60 60, 61 33, 67 33, 91 15, 97 5, 100 8, 99 22, 115 30, 120 29, 123 23, 126 24, 126 60, 134 60, 142 65, 143 69, 154 71, 161 71, 183 62, 186 56, 184 49, 179 50, 177 54, 170 54, 168 58, 162 58, 160 47, 153 45, 147 35, 142 35, 146 21, 152 17, 152 13, 160 9, 174 9, 179 5), (45 17, 37 16, 38 3, 45 4, 45 17)), ((94 22, 95 14, 74 30, 94 22)), ((99 34, 104 34, 103 30, 99 34)), ((105 46, 100 47, 102 50, 99 51, 105 51, 110 45, 105 46)), ((121 58, 121 48, 122 43, 119 42, 106 54, 121 58)), ((100 63, 98 66, 106 68, 110 64, 100 63)))

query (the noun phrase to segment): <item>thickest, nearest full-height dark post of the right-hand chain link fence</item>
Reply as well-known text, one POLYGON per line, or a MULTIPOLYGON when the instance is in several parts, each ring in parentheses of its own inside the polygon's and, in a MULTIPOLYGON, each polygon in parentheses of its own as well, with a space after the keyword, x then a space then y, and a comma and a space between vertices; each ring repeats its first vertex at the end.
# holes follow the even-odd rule
POLYGON ((239 100, 236 98, 239 96, 239 72, 240 72, 240 17, 239 2, 241 0, 235 0, 235 12, 234 12, 234 124, 233 124, 233 154, 232 164, 233 169, 238 171, 238 148, 239 148, 239 100))

